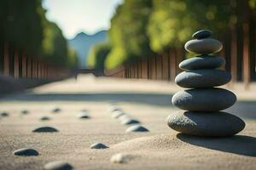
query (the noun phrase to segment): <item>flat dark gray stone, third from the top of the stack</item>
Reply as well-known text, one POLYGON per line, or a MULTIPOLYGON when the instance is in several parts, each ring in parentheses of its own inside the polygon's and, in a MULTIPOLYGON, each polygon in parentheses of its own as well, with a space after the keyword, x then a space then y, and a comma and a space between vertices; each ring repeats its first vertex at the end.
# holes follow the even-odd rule
POLYGON ((178 67, 183 70, 215 69, 225 65, 225 59, 218 56, 199 55, 183 60, 178 67))

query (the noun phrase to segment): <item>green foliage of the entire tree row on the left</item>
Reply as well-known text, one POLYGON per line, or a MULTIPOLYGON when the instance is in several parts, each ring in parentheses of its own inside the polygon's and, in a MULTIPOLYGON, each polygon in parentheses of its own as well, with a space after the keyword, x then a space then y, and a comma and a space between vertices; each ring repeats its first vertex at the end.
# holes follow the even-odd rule
POLYGON ((41 0, 1 0, 0 44, 4 53, 14 50, 32 59, 75 67, 76 53, 68 48, 61 29, 47 20, 45 13, 41 0))

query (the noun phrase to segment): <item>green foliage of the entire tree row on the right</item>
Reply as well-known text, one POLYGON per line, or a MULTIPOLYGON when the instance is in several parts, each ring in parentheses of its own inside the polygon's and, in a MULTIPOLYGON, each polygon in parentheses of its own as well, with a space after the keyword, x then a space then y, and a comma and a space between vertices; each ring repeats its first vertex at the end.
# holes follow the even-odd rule
POLYGON ((114 68, 183 48, 198 29, 210 29, 221 39, 227 31, 255 20, 255 9, 256 0, 125 0, 111 20, 105 65, 114 68))

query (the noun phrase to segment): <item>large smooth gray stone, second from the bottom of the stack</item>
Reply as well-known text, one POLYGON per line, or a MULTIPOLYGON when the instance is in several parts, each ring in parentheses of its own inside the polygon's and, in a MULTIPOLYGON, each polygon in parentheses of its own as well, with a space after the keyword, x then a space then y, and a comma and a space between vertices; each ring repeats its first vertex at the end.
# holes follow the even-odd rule
POLYGON ((197 88, 177 92, 172 104, 185 111, 221 111, 236 103, 236 95, 223 88, 197 88))

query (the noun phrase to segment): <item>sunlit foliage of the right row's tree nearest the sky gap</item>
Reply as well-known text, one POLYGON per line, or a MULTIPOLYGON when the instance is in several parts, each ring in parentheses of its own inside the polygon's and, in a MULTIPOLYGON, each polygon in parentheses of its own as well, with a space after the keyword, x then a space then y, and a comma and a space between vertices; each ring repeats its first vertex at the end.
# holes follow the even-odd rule
POLYGON ((129 0, 119 5, 109 30, 112 50, 106 60, 108 68, 151 52, 146 31, 151 8, 151 0, 129 0))

